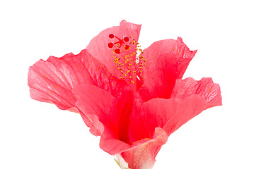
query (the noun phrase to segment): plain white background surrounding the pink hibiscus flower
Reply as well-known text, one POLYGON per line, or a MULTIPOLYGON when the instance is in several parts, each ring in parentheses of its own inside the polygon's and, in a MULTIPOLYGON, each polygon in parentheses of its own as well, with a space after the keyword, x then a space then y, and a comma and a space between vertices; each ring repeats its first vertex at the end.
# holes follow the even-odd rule
POLYGON ((171 134, 154 168, 256 168, 253 1, 1 1, 0 168, 118 168, 80 115, 30 99, 28 68, 86 48, 125 19, 142 49, 182 37, 198 49, 185 77, 213 77, 223 106, 171 134))

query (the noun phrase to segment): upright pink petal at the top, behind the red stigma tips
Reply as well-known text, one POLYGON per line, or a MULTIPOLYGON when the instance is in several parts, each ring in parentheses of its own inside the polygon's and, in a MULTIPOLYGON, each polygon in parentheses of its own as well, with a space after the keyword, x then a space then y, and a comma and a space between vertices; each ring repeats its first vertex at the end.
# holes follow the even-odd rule
POLYGON ((93 57, 97 58, 98 61, 104 63, 110 70, 112 75, 120 77, 121 73, 120 70, 117 70, 117 64, 114 62, 115 58, 113 58, 113 55, 119 56, 131 54, 132 52, 134 52, 134 50, 136 51, 136 45, 133 49, 130 49, 125 54, 113 54, 113 49, 110 49, 107 44, 109 44, 110 42, 115 43, 117 40, 116 38, 110 39, 109 35, 115 35, 120 39, 132 36, 132 39, 138 42, 140 30, 141 25, 127 23, 125 20, 122 20, 120 26, 110 27, 106 30, 103 30, 103 32, 100 32, 99 35, 91 40, 90 44, 88 44, 86 49, 88 49, 90 54, 92 54, 93 57))

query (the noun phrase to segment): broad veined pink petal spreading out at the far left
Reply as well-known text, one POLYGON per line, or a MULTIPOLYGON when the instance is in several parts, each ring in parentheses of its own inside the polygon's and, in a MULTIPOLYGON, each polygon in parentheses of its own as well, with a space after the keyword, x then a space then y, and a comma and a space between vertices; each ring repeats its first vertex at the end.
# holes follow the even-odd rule
POLYGON ((60 109, 74 107, 76 98, 72 89, 81 82, 93 84, 91 75, 74 54, 62 58, 50 56, 47 61, 37 61, 28 72, 28 85, 31 98, 52 102, 60 109))

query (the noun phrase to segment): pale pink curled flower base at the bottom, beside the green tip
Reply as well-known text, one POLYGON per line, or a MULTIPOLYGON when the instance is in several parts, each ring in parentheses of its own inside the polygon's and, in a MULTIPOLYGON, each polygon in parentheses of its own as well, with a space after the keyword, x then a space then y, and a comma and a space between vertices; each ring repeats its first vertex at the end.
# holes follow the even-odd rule
POLYGON ((124 161, 129 164, 129 168, 132 169, 150 169, 153 168, 155 163, 156 155, 161 149, 161 146, 167 142, 168 134, 161 129, 156 127, 156 130, 153 133, 151 139, 141 139, 137 142, 134 142, 131 149, 122 152, 119 154, 120 165, 122 168, 125 168, 125 163, 122 162, 122 157, 124 161), (124 166, 122 166, 124 165, 124 166))

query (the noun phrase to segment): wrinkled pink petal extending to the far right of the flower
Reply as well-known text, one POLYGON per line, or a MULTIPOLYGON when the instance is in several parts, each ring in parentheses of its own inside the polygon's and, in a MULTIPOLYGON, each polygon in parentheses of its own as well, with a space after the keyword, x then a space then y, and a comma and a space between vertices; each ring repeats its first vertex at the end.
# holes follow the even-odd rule
POLYGON ((199 81, 192 77, 177 80, 171 97, 177 101, 179 101, 178 99, 183 101, 178 104, 180 108, 175 108, 175 113, 168 118, 168 122, 163 127, 168 134, 175 132, 180 126, 207 108, 222 105, 219 84, 214 83, 208 77, 199 81))

